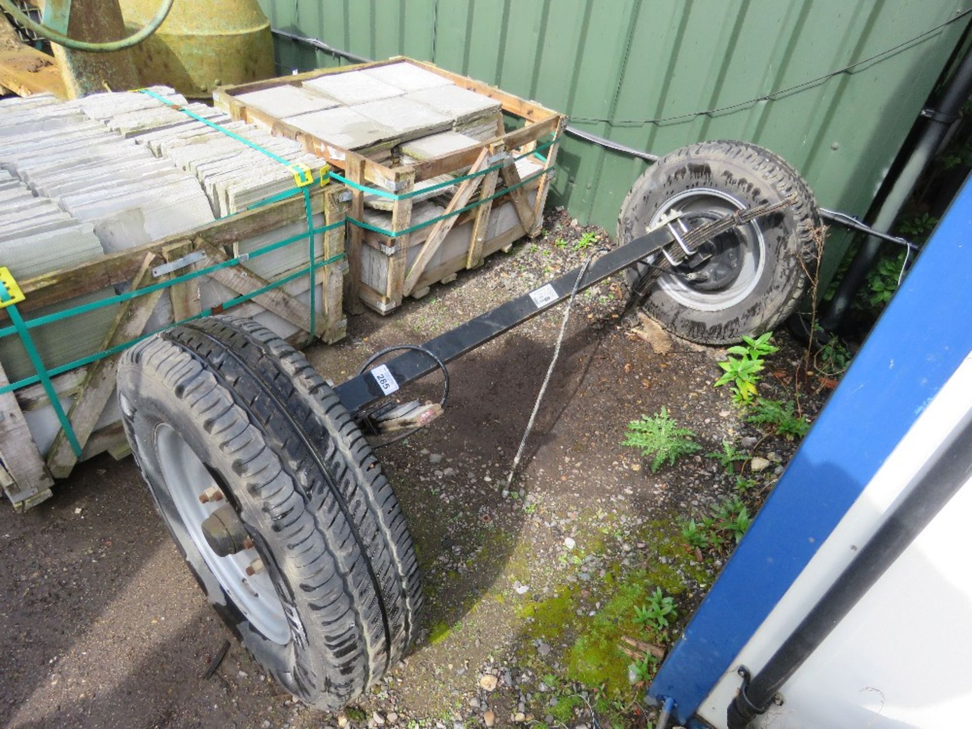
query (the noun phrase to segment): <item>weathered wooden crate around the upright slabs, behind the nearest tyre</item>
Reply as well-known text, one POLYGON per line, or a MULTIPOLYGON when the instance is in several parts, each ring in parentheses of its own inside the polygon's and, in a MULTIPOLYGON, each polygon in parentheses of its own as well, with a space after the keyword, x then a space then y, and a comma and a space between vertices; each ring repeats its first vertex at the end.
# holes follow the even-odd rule
MULTIPOLYGON (((311 194, 311 213, 318 217, 323 215, 326 225, 342 221, 347 209, 344 191, 342 186, 334 183, 326 188, 316 186, 311 194)), ((111 291, 116 286, 129 287, 131 290, 150 286, 164 281, 165 277, 177 277, 232 258, 238 255, 241 241, 305 222, 304 197, 296 195, 154 243, 20 281, 18 283, 26 298, 17 308, 29 320, 31 312, 63 304, 79 295, 105 289, 111 291), (163 274, 161 278, 156 278, 152 273, 152 269, 160 264, 197 252, 202 257, 189 266, 163 274)), ((320 256, 327 260, 343 253, 344 238, 345 226, 336 226, 322 234, 320 256)), ((302 247, 304 252, 307 250, 305 242, 297 241, 292 245, 302 247)), ((240 265, 227 266, 119 304, 102 349, 130 341, 146 330, 153 330, 146 325, 157 311, 156 304, 163 296, 170 298, 172 317, 179 321, 200 312, 205 288, 211 283, 225 287, 231 296, 252 294, 266 286, 269 282, 248 269, 247 263, 244 261, 240 265)), ((305 265, 306 258, 301 267, 305 265)), ((341 298, 346 270, 346 261, 339 259, 316 271, 320 310, 315 320, 315 336, 326 342, 336 341, 344 335, 346 319, 341 298)), ((274 280, 283 277, 274 276, 274 280)), ((298 276, 229 311, 258 320, 260 317, 277 317, 295 330, 289 340, 295 345, 302 345, 307 341, 310 329, 309 288, 309 274, 298 276)), ((6 327, 9 323, 9 316, 0 310, 0 324, 6 327)), ((16 334, 12 336, 16 338, 16 334)), ((68 403, 65 410, 83 447, 81 459, 75 455, 59 424, 50 429, 51 423, 57 423, 56 416, 40 383, 0 395, 0 486, 15 507, 28 508, 44 501, 51 495, 53 479, 67 476, 79 460, 105 451, 116 457, 127 453, 117 403, 111 397, 119 357, 107 357, 52 378, 59 399, 62 403, 68 403)), ((0 365, 0 387, 7 384, 7 374, 0 365)))

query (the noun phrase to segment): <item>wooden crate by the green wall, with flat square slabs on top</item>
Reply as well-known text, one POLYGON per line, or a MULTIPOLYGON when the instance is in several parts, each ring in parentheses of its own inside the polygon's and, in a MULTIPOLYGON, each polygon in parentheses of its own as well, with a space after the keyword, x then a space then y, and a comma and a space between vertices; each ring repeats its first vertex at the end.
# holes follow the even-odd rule
MULTIPOLYGON (((433 226, 398 236, 380 235, 359 226, 350 226, 348 256, 351 266, 345 291, 345 305, 355 311, 359 298, 371 308, 387 313, 397 308, 405 295, 421 296, 428 287, 449 281, 465 268, 482 264, 485 256, 507 248, 523 235, 538 235, 542 226, 543 206, 550 188, 552 168, 557 158, 558 140, 563 133, 566 117, 478 81, 445 71, 432 63, 396 56, 387 61, 366 63, 342 68, 318 69, 303 74, 270 79, 253 84, 217 89, 213 98, 234 120, 250 121, 268 126, 274 133, 299 141, 304 149, 327 159, 351 182, 399 194, 413 191, 415 186, 441 175, 458 176, 469 170, 475 172, 495 166, 499 159, 524 155, 537 149, 551 138, 553 144, 543 150, 545 158, 537 161, 538 169, 550 170, 527 185, 520 185, 518 167, 507 163, 456 186, 442 213, 462 209, 476 200, 493 197, 503 188, 514 190, 497 196, 463 214, 445 218, 433 226), (399 163, 397 147, 391 150, 391 160, 378 161, 371 157, 387 157, 387 145, 376 144, 357 152, 341 148, 328 140, 310 134, 284 121, 265 109, 248 104, 240 97, 247 93, 272 87, 300 87, 304 82, 332 74, 377 68, 394 63, 407 63, 432 72, 465 88, 499 102, 502 112, 496 115, 496 135, 478 141, 467 148, 434 156, 415 163, 399 163), (518 125, 506 130, 503 113, 518 125), (512 220, 510 219, 512 216, 512 220), (498 222, 502 221, 502 225, 498 222), (447 250, 443 250, 443 246, 447 250)), ((352 107, 353 108, 353 107, 352 107)), ((352 191, 349 215, 356 220, 365 216, 364 192, 352 191)), ((414 225, 412 198, 397 199, 392 204, 388 227, 397 232, 414 225)))

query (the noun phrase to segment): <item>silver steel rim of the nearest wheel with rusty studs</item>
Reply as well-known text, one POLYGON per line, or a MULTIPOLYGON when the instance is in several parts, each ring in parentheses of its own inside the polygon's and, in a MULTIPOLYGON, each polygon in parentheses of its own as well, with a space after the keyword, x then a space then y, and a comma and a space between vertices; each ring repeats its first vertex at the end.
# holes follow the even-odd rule
POLYGON ((265 569, 253 575, 246 573, 246 568, 257 558, 257 551, 247 549, 220 557, 202 533, 203 520, 223 502, 201 503, 199 495, 220 484, 189 443, 167 423, 156 427, 156 452, 172 503, 206 566, 254 628, 269 641, 280 645, 289 643, 290 624, 270 575, 265 569))

